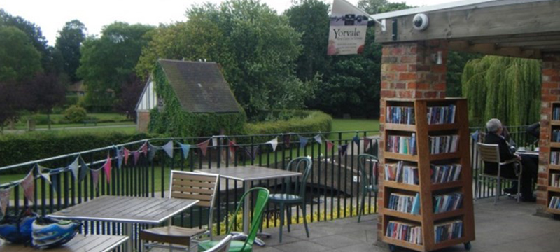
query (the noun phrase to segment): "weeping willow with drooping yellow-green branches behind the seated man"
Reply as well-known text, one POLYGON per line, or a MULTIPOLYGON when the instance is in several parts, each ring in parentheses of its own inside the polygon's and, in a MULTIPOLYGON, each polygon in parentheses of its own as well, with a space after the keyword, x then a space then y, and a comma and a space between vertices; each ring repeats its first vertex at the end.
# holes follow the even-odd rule
POLYGON ((490 118, 505 125, 528 125, 539 118, 540 62, 486 56, 465 65, 461 83, 469 102, 470 125, 490 118))

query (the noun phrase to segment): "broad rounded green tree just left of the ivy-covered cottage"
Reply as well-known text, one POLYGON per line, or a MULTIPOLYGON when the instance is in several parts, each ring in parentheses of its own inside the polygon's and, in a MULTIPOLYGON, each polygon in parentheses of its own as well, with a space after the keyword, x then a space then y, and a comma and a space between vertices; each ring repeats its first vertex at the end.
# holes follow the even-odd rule
POLYGON ((141 49, 148 43, 144 35, 152 29, 148 25, 114 22, 104 27, 101 38, 85 39, 78 77, 87 86, 86 99, 91 101, 90 106, 113 106, 112 98, 106 97, 107 90, 113 90, 117 97, 120 95, 123 83, 134 73, 141 49))

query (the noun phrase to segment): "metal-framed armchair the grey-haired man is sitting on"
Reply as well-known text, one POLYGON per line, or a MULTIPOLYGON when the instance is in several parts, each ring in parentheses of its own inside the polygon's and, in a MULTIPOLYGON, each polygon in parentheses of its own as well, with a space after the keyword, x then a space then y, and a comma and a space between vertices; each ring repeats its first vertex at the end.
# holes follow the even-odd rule
POLYGON ((496 198, 494 198, 494 204, 496 204, 496 202, 498 202, 498 200, 500 200, 500 194, 502 193, 502 181, 501 179, 510 179, 510 178, 503 178, 502 176, 500 176, 500 172, 501 172, 501 167, 502 165, 507 165, 507 164, 511 164, 511 163, 517 163, 517 165, 519 165, 519 172, 517 172, 517 169, 515 170, 515 175, 517 176, 517 179, 510 179, 513 181, 517 181, 517 202, 519 202, 519 199, 521 198, 521 171, 523 169, 523 166, 521 165, 521 161, 517 160, 517 159, 511 159, 511 160, 505 160, 505 162, 500 162, 500 150, 498 147, 498 144, 482 144, 482 143, 477 143, 477 148, 478 148, 478 153, 480 156, 480 159, 482 160, 482 162, 492 162, 492 163, 496 163, 498 164, 498 174, 493 175, 493 174, 485 174, 484 173, 484 169, 480 169, 479 173, 478 173, 478 179, 477 179, 477 188, 475 191, 475 199, 478 195, 478 192, 480 190, 480 186, 482 183, 482 178, 486 177, 486 178, 492 178, 492 179, 496 179, 498 181, 498 184, 496 185, 496 198))

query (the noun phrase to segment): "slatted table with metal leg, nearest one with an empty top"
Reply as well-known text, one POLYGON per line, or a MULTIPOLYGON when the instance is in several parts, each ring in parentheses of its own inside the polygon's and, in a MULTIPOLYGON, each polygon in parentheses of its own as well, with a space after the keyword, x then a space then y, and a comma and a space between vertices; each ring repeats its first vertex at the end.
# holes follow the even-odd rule
POLYGON ((125 234, 131 239, 127 251, 132 251, 132 223, 159 224, 197 204, 198 200, 101 196, 49 214, 52 218, 76 221, 112 221, 125 223, 125 234))

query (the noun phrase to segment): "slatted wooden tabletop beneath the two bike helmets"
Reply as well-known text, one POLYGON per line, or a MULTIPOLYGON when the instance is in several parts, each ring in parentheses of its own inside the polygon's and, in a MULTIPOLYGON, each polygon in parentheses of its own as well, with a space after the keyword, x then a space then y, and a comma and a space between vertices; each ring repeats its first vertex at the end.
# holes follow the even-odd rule
POLYGON ((0 252, 107 252, 117 248, 128 239, 129 237, 120 235, 83 236, 77 234, 76 237, 71 239, 68 243, 48 250, 41 250, 30 246, 26 247, 20 244, 9 244, 6 241, 1 240, 0 252))

